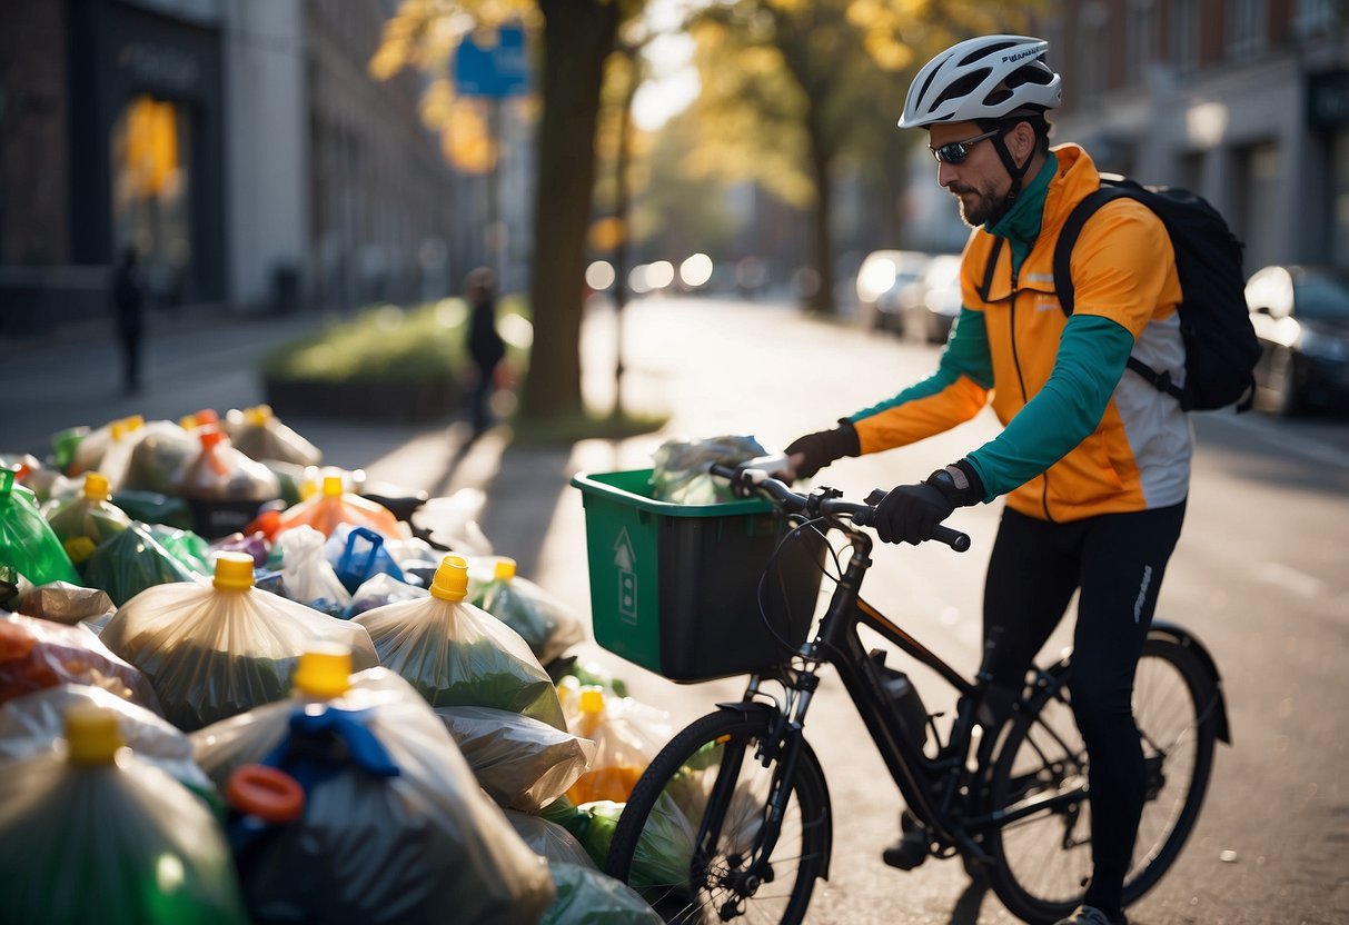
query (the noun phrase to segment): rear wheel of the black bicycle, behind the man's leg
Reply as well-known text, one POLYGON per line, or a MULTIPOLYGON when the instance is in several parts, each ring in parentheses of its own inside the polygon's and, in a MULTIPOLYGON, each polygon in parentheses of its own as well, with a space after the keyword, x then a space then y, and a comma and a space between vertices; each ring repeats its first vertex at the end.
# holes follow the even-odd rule
MULTIPOLYGON (((1125 905, 1161 879, 1194 828, 1213 771, 1218 696, 1188 649, 1156 636, 1144 643, 1133 713, 1148 789, 1125 905)), ((1066 916, 1091 878, 1086 775, 1086 747, 1062 692, 1014 721, 989 787, 993 808, 1009 821, 986 836, 985 847, 994 859, 994 891, 1028 922, 1066 916)))

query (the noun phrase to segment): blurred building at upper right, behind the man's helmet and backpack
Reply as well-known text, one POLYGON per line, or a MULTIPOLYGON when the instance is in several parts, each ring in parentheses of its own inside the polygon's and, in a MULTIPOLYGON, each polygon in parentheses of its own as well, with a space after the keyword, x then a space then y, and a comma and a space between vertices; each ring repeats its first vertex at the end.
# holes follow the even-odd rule
POLYGON ((1062 1, 1055 140, 1187 186, 1267 263, 1349 267, 1349 22, 1336 0, 1062 1))

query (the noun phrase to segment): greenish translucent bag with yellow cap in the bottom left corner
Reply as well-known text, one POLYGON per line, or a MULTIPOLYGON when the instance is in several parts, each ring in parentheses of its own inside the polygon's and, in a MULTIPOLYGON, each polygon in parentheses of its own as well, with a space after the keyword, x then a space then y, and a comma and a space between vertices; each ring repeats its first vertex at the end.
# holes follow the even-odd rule
POLYGON ((206 804, 123 748, 115 711, 73 707, 65 732, 0 778, 5 921, 246 925, 206 804))

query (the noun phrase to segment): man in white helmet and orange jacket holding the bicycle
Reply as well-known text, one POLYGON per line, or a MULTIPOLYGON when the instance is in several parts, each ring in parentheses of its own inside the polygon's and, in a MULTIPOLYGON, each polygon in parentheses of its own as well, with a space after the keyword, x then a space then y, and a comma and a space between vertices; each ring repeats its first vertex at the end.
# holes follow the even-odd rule
POLYGON ((1191 456, 1176 399, 1126 374, 1125 361, 1133 353, 1182 376, 1180 285, 1160 220, 1120 200, 1082 231, 1075 310, 1060 310, 1054 245, 1099 174, 1083 148, 1050 147, 1060 78, 1047 50, 1041 39, 990 35, 919 71, 898 124, 928 131, 938 183, 973 229, 960 316, 931 376, 792 442, 788 475, 912 444, 992 403, 1004 430, 892 489, 876 530, 916 543, 954 508, 1006 496, 983 593, 985 636, 1004 630, 993 667, 1004 700, 1079 592, 1070 693, 1090 758, 1093 876, 1059 925, 1118 925, 1145 787, 1133 674, 1180 535, 1191 456))

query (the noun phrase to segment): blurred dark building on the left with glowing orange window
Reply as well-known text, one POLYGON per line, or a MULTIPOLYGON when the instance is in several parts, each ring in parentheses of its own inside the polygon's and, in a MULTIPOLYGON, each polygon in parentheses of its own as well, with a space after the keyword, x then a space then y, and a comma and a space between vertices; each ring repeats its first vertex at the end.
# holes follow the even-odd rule
MULTIPOLYGON (((167 310, 459 291, 482 260, 482 229, 456 209, 472 181, 422 124, 425 78, 368 71, 395 8, 8 0, 0 332, 107 316, 128 247, 167 310)), ((505 197, 515 228, 521 186, 505 197)))

